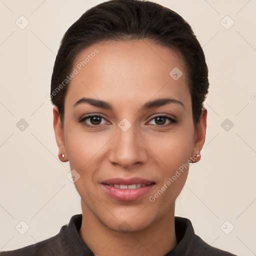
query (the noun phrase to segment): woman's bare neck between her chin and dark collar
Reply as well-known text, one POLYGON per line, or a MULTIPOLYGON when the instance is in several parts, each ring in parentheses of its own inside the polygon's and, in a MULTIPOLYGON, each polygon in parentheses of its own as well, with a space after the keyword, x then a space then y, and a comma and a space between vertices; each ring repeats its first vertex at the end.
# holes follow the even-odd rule
POLYGON ((163 256, 176 244, 174 204, 157 222, 134 232, 109 229, 81 201, 82 223, 79 235, 88 248, 98 256, 163 256))

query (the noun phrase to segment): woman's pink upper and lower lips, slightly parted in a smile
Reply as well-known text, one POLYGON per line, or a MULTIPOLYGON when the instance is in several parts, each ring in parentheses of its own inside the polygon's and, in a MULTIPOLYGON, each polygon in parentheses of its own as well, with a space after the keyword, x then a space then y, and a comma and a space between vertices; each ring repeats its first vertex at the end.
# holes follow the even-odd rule
POLYGON ((147 194, 152 187, 155 185, 155 182, 152 180, 133 177, 129 179, 124 178, 111 178, 106 179, 101 182, 104 191, 110 195, 112 198, 121 201, 133 201, 143 195, 147 194), (132 185, 132 184, 145 184, 146 186, 138 187, 134 189, 121 189, 118 187, 110 186, 109 184, 123 184, 123 185, 132 185))

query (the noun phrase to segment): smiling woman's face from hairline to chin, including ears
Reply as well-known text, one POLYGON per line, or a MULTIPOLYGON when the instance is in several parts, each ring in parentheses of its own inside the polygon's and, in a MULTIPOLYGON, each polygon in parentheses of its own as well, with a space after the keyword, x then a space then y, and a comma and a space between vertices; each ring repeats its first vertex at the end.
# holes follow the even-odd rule
POLYGON ((112 41, 84 49, 73 68, 64 130, 56 107, 54 129, 83 212, 130 231, 174 214, 182 164, 199 160, 206 128, 204 112, 194 129, 180 55, 146 40, 112 41))

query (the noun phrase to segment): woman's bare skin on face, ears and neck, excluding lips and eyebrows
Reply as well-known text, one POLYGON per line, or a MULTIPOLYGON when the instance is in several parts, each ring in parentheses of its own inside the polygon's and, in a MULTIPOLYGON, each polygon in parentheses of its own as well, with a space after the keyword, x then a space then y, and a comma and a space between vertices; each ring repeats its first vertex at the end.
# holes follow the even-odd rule
MULTIPOLYGON (((164 255, 176 244, 175 199, 188 168, 155 199, 149 201, 175 171, 200 151, 206 131, 206 109, 196 127, 185 65, 177 51, 146 40, 109 41, 84 49, 75 64, 95 48, 98 53, 70 81, 64 103, 63 128, 57 107, 53 126, 62 161, 69 161, 80 177, 74 185, 81 196, 82 224, 79 234, 93 253, 106 255, 164 255), (174 80, 169 72, 175 66, 182 75, 174 80), (112 110, 81 103, 82 97, 107 101, 112 110), (183 103, 168 103, 151 109, 141 106, 156 98, 171 97, 183 103), (98 122, 78 120, 100 114, 98 122), (157 121, 157 116, 175 117, 157 121), (118 123, 126 118, 126 131, 118 123), (99 124, 97 124, 99 123, 99 124), (170 124, 155 127, 158 124, 170 124), (110 197, 100 184, 113 177, 141 177, 155 182, 146 195, 134 201, 110 197), (120 230, 127 227, 127 232, 120 230)), ((74 67, 75 67, 74 64, 74 67)), ((197 156, 193 162, 200 160, 197 156)))

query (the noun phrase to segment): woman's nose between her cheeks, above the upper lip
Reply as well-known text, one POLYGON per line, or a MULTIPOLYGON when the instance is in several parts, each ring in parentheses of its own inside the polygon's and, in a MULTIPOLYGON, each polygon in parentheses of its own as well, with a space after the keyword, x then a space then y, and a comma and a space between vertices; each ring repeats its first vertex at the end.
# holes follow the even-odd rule
POLYGON ((134 167, 134 164, 145 163, 148 159, 148 148, 141 132, 132 124, 124 131, 116 127, 117 134, 112 139, 108 160, 123 168, 134 167))

